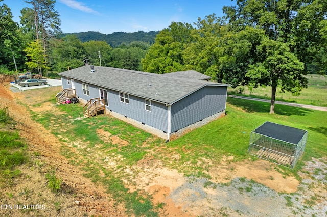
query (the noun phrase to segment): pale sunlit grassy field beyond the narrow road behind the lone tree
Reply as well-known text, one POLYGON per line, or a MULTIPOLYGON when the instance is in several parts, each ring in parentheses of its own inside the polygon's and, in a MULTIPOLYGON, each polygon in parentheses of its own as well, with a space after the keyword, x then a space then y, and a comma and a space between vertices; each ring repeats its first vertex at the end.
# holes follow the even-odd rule
MULTIPOLYGON (((306 77, 309 79, 308 88, 303 89, 299 96, 292 96, 289 92, 282 93, 281 89, 277 88, 276 100, 327 107, 327 76, 314 74, 306 77)), ((228 94, 270 99, 271 87, 258 87, 252 90, 248 86, 229 88, 228 94), (243 89, 243 93, 240 94, 243 89)))

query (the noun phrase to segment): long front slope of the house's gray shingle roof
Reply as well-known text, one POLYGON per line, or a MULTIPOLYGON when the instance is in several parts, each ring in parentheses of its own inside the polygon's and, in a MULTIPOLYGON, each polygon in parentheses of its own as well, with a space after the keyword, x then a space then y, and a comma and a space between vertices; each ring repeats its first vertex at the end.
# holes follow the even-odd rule
POLYGON ((166 104, 173 104, 204 86, 229 86, 111 67, 94 66, 91 72, 89 65, 59 75, 166 104))

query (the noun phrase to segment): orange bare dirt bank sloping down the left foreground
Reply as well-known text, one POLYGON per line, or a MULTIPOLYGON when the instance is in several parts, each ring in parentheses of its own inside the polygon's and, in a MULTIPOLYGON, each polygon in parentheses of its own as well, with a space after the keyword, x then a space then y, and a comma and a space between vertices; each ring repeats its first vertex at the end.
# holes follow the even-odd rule
POLYGON ((111 200, 102 186, 85 178, 77 167, 69 164, 69 160, 60 154, 62 142, 41 124, 33 121, 27 108, 17 103, 17 100, 25 99, 24 103, 28 104, 28 100, 37 100, 38 97, 42 100, 44 93, 46 91, 34 91, 35 97, 26 98, 23 93, 9 91, 8 83, 0 84, 0 105, 8 107, 10 116, 17 122, 16 129, 28 144, 31 156, 29 164, 19 168, 21 174, 17 182, 2 186, 4 194, 0 197, 1 204, 41 204, 45 207, 37 210, 1 209, 0 215, 26 216, 27 212, 31 212, 29 215, 34 216, 126 216, 124 209, 114 205, 115 201, 111 200), (45 174, 52 170, 63 181, 62 190, 58 194, 47 187, 45 174))

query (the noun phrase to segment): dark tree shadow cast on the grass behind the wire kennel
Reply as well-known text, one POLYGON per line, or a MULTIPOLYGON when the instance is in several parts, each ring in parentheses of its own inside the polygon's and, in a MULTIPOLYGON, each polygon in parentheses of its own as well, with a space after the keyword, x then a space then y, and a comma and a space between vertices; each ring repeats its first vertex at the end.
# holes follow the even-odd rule
MULTIPOLYGON (((252 101, 252 100, 238 99, 238 98, 232 98, 232 97, 227 97, 227 102, 236 107, 240 107, 244 111, 249 112, 249 113, 252 113, 252 112, 269 113, 270 112, 270 103, 269 102, 252 101)), ((310 112, 311 112, 311 110, 308 110, 306 108, 275 104, 275 114, 278 114, 278 115, 306 116, 310 112)))

